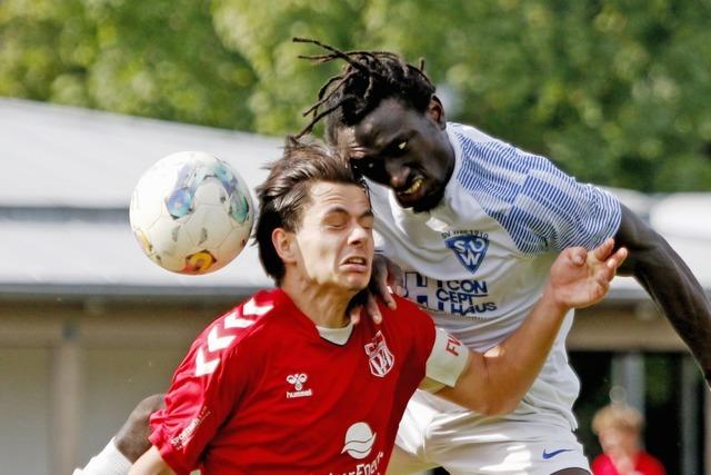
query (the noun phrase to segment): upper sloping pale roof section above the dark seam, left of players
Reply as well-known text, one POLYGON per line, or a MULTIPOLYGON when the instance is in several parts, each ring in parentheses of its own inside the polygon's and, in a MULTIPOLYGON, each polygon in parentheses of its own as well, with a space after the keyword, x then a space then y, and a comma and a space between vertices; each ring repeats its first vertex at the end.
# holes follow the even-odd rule
POLYGON ((279 158, 282 145, 253 133, 3 98, 0 137, 0 206, 122 208, 143 171, 181 150, 209 151, 260 182, 261 167, 279 158))

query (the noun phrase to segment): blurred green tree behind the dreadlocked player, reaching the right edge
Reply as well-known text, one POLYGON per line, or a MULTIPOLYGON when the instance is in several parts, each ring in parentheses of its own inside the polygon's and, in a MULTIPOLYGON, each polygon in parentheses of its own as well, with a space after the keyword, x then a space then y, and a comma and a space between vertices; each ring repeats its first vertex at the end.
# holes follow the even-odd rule
POLYGON ((300 128, 298 111, 338 70, 294 61, 314 49, 290 38, 316 37, 423 57, 455 98, 453 119, 549 156, 581 180, 643 191, 711 188, 708 2, 214 4, 221 38, 260 79, 251 102, 259 131, 300 128))

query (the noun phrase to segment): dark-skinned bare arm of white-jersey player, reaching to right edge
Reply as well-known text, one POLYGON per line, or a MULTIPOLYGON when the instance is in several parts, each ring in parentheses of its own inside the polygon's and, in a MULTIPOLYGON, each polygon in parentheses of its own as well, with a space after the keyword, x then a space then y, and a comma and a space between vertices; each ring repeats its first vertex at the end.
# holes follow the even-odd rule
POLYGON ((630 251, 620 275, 634 276, 644 287, 711 384, 711 303, 703 288, 664 238, 624 206, 615 240, 630 251))

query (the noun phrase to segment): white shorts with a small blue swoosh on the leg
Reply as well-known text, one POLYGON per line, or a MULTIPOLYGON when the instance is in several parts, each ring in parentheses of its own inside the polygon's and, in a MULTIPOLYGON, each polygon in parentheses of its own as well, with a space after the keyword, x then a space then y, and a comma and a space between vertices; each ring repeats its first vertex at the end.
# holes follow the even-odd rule
MULTIPOLYGON (((481 417, 445 402, 410 400, 400 423, 389 475, 443 467, 452 475, 550 475, 563 468, 590 465, 569 427, 535 420, 481 417), (445 408, 447 412, 441 409, 445 408)), ((530 415, 529 415, 530 416, 530 415)))

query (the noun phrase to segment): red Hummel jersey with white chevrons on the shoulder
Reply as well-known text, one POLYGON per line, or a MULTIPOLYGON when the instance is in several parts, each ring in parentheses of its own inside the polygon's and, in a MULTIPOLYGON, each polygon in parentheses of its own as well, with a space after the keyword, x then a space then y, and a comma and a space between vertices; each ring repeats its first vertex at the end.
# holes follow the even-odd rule
POLYGON ((282 290, 257 294, 193 343, 151 443, 178 474, 384 473, 435 331, 404 299, 381 313, 337 345, 282 290))

